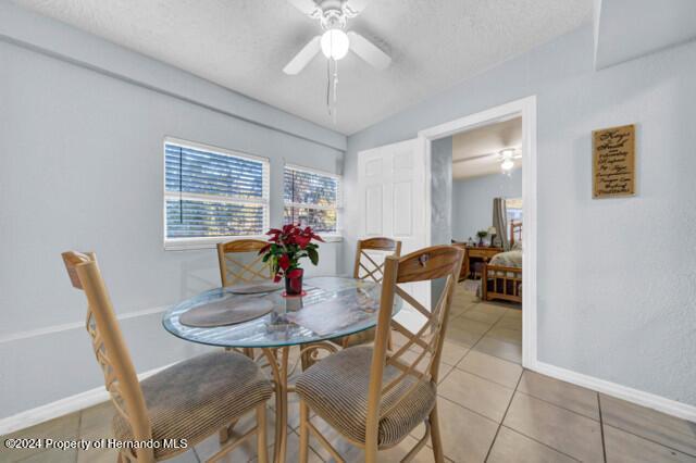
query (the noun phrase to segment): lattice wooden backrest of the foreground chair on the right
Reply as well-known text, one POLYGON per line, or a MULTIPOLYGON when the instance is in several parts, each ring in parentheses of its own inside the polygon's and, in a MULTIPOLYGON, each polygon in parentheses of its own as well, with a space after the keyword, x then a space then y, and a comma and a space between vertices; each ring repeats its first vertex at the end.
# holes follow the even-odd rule
MULTIPOLYGON (((451 304, 455 285, 457 283, 464 251, 451 246, 435 246, 412 252, 403 258, 387 256, 384 264, 384 278, 382 281, 382 298, 380 313, 377 315, 376 337, 373 348, 370 377, 370 390, 366 410, 368 446, 376 446, 380 420, 409 397, 419 386, 419 381, 437 384, 439 361, 443 351, 444 334, 447 329, 447 318, 451 304), (445 278, 445 287, 439 300, 427 310, 415 298, 406 292, 398 285, 428 281, 445 278), (412 333, 403 325, 391 318, 394 300, 399 296, 405 303, 415 308, 423 316, 425 323, 418 333, 412 333), (390 330, 395 329, 407 338, 407 341, 395 352, 388 350, 390 330), (414 349, 420 349, 415 351, 414 349), (409 358, 405 355, 410 352, 409 358), (424 367, 420 365, 427 362, 424 367), (391 375, 385 384, 384 371, 394 367, 398 374, 391 375), (399 397, 390 400, 388 408, 381 406, 382 398, 397 386, 410 380, 403 390, 399 390, 399 397)), ((376 448, 376 447, 375 447, 376 448)))

